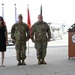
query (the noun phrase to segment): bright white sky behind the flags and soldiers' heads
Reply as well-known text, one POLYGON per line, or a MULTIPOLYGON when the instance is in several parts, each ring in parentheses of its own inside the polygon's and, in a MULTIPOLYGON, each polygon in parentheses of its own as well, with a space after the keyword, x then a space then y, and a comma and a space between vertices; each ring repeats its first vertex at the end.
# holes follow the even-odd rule
POLYGON ((8 31, 15 23, 15 6, 17 15, 23 15, 23 21, 27 23, 27 5, 29 5, 31 24, 37 21, 42 5, 43 20, 54 26, 62 24, 71 26, 75 22, 75 0, 0 0, 0 15, 2 15, 2 3, 4 3, 4 20, 8 31))

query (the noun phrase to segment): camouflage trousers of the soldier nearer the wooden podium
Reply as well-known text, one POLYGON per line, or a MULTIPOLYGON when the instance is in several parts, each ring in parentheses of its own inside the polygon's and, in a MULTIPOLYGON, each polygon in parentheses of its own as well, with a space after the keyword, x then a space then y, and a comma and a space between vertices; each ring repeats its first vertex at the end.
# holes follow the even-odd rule
POLYGON ((46 56, 46 48, 47 48, 47 41, 46 40, 39 40, 35 42, 35 48, 37 52, 37 58, 43 59, 46 56))

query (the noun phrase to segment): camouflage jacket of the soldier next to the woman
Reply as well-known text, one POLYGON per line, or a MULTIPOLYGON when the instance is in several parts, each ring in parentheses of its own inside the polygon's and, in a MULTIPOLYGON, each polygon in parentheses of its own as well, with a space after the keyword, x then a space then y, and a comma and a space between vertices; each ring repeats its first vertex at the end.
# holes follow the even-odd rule
POLYGON ((16 41, 27 41, 30 38, 28 25, 23 22, 15 23, 11 28, 11 38, 16 41))

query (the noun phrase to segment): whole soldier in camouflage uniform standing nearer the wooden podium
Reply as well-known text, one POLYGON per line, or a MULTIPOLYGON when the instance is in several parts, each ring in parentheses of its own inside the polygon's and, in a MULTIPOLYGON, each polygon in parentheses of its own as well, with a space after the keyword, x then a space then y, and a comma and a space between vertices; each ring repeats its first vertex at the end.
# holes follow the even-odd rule
POLYGON ((42 15, 38 15, 38 21, 32 26, 32 41, 35 43, 37 51, 38 64, 46 64, 46 48, 47 42, 50 41, 50 27, 43 21, 42 15))

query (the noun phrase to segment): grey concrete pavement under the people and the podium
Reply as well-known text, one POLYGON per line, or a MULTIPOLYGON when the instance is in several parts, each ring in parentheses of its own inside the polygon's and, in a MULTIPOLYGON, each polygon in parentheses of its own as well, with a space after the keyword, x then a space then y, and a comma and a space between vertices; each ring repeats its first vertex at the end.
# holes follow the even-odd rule
POLYGON ((75 75, 75 58, 68 59, 67 46, 47 48, 47 65, 38 65, 36 51, 30 48, 26 66, 17 66, 16 56, 5 57, 5 67, 0 67, 0 75, 75 75))

